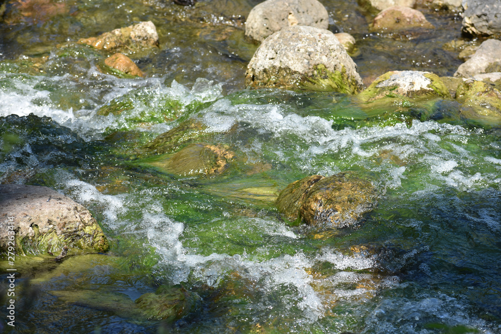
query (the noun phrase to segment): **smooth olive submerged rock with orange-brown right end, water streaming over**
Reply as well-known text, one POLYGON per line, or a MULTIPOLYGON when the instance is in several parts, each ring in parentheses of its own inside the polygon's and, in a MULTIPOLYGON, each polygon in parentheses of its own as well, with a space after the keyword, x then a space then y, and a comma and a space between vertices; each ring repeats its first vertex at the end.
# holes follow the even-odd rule
POLYGON ((227 145, 196 143, 155 157, 148 164, 179 176, 210 176, 224 171, 233 156, 227 145))

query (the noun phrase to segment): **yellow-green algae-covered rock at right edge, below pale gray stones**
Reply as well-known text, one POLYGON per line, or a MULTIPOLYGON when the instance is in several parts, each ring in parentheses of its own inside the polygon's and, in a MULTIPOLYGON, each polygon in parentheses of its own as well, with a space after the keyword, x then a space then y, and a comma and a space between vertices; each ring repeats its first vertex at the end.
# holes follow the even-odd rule
POLYGON ((477 80, 467 80, 457 88, 456 99, 462 102, 462 118, 474 124, 501 125, 501 91, 477 80))

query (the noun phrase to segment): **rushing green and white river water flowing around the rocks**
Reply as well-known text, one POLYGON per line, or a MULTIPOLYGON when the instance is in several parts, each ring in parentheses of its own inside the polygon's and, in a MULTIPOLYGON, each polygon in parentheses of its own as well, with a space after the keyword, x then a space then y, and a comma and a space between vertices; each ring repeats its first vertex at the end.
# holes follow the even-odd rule
MULTIPOLYGON (((26 269, 16 327, 0 328, 501 332, 498 129, 446 121, 451 100, 371 114, 343 94, 244 90, 256 47, 242 40, 241 16, 254 2, 40 4, 31 14, 8 6, 0 27, 0 180, 49 186, 85 205, 111 249, 26 269), (160 47, 131 55, 144 79, 102 74, 105 53, 74 44, 148 20, 160 47), (97 114, 124 101, 130 108, 118 115, 97 114), (235 153, 228 169, 176 177, 152 167, 144 145, 194 123, 200 129, 180 143, 226 145, 235 153), (380 193, 357 226, 305 231, 277 212, 289 183, 347 170, 370 174, 380 193), (160 285, 182 285, 199 307, 174 323, 128 308, 160 285)), ((461 63, 442 49, 460 37, 457 16, 424 10, 439 29, 379 36, 367 34, 370 16, 355 1, 324 5, 331 28, 359 41, 354 60, 367 82, 388 70, 450 76, 461 63)))

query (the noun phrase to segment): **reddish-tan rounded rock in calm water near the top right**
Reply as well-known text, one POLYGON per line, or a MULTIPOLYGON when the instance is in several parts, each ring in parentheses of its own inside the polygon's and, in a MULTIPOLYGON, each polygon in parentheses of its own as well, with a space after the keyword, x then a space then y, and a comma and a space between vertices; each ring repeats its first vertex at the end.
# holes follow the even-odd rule
POLYGON ((371 32, 401 32, 416 28, 434 29, 423 13, 408 7, 394 6, 379 13, 373 20, 371 32))

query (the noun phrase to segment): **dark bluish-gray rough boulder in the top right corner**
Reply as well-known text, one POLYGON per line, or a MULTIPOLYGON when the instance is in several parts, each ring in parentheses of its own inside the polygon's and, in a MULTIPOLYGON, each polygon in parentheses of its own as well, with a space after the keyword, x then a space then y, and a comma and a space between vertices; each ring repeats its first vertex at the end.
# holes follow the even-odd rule
POLYGON ((489 36, 501 33, 501 1, 463 0, 463 31, 489 36))

